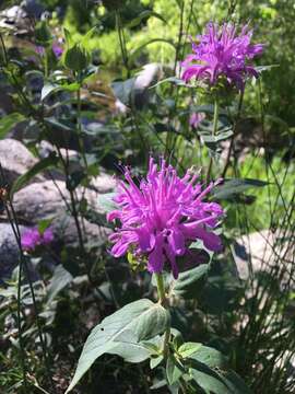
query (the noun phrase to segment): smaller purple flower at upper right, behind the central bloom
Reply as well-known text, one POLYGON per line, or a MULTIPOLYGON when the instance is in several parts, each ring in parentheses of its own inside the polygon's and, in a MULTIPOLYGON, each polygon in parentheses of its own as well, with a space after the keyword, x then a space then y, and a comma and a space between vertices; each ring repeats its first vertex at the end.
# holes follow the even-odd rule
POLYGON ((196 78, 215 85, 225 78, 229 85, 243 91, 247 77, 258 78, 251 60, 263 51, 262 44, 250 44, 251 37, 248 25, 238 34, 232 23, 209 23, 205 34, 197 36, 198 43, 192 42, 193 54, 182 62, 182 79, 188 82, 196 78))

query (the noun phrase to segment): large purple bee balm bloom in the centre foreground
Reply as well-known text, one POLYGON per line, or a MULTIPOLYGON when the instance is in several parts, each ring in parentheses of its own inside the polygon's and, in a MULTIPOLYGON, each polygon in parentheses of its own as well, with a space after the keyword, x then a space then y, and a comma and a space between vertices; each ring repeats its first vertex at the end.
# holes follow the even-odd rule
POLYGON ((107 218, 121 223, 109 236, 115 243, 113 256, 120 257, 131 251, 148 258, 151 273, 161 273, 165 263, 169 263, 177 278, 176 258, 188 252, 191 242, 202 240, 208 250, 221 251, 221 239, 211 229, 217 225, 223 209, 219 204, 203 201, 216 183, 202 190, 201 184, 196 183, 198 175, 188 171, 180 178, 165 160, 158 170, 152 158, 146 179, 141 179, 139 186, 127 167, 125 177, 128 185, 120 182, 114 198, 118 209, 107 218))

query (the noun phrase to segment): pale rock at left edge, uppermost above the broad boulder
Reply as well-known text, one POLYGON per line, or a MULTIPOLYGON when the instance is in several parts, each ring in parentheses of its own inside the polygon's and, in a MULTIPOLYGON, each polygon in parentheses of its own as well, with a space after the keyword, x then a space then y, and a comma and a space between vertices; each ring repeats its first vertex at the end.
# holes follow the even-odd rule
MULTIPOLYGON (((5 181, 11 185, 20 175, 23 175, 35 165, 38 160, 22 142, 7 138, 0 140, 0 161, 5 181)), ((45 177, 37 175, 32 182, 44 179, 45 177)))

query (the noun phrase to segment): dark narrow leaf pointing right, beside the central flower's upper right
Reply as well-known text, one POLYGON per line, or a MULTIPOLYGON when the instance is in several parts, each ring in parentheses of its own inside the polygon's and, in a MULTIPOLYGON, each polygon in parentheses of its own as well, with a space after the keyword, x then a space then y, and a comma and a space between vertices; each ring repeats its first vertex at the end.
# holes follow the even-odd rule
POLYGON ((268 182, 260 179, 226 179, 222 185, 216 186, 213 192, 213 198, 226 199, 234 197, 238 194, 247 192, 249 188, 263 187, 268 185, 268 182))

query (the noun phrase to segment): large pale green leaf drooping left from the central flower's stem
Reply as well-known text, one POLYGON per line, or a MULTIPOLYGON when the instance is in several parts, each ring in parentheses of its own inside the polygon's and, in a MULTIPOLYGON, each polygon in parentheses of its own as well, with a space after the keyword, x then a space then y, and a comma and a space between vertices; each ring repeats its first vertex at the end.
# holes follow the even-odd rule
MULTIPOLYGON (((128 341, 132 337, 132 341, 137 338, 140 343, 153 338, 163 333, 168 324, 168 312, 161 304, 148 299, 132 302, 104 318, 88 336, 67 393, 75 386, 99 356, 111 351, 119 354, 119 349, 127 356, 123 340, 128 341)), ((133 348, 131 352, 133 355, 133 348)))

